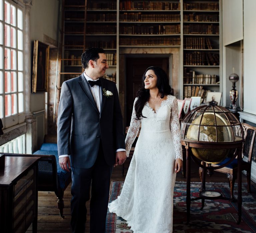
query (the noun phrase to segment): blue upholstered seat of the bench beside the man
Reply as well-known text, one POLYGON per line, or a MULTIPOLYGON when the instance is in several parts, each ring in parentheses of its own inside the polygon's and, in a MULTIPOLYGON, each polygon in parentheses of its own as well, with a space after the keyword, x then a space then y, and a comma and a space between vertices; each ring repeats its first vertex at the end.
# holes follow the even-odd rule
MULTIPOLYGON (((54 143, 43 143, 43 144, 54 144, 54 143)), ((43 146, 43 145, 42 145, 43 146)), ((56 144, 57 147, 57 144, 56 144)), ((41 147, 42 148, 42 147, 41 147)), ((46 148, 45 146, 43 148, 46 148)), ((54 145, 50 145, 50 148, 54 148, 54 145)), ((56 164, 57 164, 57 175, 58 175, 58 183, 60 188, 65 187, 65 182, 67 179, 71 176, 71 172, 64 171, 61 169, 59 165, 59 156, 57 150, 37 150, 33 154, 42 154, 42 155, 54 155, 56 158, 56 164)))

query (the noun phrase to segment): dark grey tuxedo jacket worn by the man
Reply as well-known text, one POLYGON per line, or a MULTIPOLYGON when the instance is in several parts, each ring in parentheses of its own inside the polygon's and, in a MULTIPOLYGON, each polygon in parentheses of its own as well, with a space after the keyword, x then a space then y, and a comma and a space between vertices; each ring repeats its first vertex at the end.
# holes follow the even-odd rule
POLYGON ((70 154, 71 167, 90 168, 97 158, 102 142, 108 165, 115 164, 115 151, 125 148, 123 121, 116 84, 101 79, 102 89, 113 96, 102 94, 99 113, 89 84, 84 75, 65 81, 57 121, 58 154, 70 154))

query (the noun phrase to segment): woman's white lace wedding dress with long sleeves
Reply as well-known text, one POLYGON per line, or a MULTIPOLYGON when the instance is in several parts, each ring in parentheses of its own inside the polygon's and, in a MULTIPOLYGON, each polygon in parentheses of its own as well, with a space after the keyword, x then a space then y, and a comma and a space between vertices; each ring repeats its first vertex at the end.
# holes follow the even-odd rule
POLYGON ((133 107, 125 140, 127 155, 140 122, 141 131, 121 195, 108 207, 110 212, 127 220, 135 233, 170 233, 176 178, 174 164, 176 158, 182 159, 177 100, 168 95, 157 112, 147 102, 142 115, 147 118, 136 120, 133 107))

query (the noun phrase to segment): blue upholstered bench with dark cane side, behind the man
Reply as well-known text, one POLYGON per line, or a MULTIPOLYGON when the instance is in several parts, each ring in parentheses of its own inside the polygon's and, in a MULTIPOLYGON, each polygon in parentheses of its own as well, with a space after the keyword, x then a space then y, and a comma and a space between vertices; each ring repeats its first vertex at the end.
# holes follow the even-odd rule
POLYGON ((58 149, 56 143, 43 143, 40 150, 35 151, 33 155, 43 155, 42 158, 44 159, 43 162, 38 162, 38 191, 55 192, 58 198, 57 203, 60 211, 60 216, 64 218, 63 195, 64 190, 71 181, 71 172, 64 171, 61 169, 59 165, 58 149), (49 156, 48 163, 46 163, 46 155, 49 156), (49 184, 50 180, 51 185, 49 184))

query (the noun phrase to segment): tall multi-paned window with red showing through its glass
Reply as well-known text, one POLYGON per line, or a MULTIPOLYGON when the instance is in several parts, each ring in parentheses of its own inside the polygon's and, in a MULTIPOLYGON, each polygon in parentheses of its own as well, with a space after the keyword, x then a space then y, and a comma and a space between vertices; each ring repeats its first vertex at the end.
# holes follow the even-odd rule
POLYGON ((23 8, 0 0, 0 117, 4 127, 24 121, 23 8))

